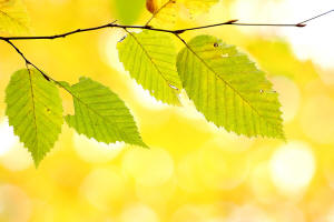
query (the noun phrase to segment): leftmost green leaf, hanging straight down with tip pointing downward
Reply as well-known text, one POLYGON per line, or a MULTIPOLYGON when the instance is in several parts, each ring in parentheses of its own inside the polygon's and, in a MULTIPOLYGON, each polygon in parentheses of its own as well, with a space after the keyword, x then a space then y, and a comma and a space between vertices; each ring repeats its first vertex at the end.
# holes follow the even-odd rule
POLYGON ((62 105, 57 87, 37 70, 12 74, 6 89, 6 114, 38 165, 58 140, 62 105))

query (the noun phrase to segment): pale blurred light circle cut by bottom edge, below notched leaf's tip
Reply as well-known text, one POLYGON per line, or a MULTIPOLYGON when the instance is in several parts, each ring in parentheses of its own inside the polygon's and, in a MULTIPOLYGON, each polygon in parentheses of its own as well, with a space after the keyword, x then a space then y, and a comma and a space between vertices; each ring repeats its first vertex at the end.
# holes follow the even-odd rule
POLYGON ((122 210, 121 222, 159 222, 157 213, 148 205, 137 203, 122 210))

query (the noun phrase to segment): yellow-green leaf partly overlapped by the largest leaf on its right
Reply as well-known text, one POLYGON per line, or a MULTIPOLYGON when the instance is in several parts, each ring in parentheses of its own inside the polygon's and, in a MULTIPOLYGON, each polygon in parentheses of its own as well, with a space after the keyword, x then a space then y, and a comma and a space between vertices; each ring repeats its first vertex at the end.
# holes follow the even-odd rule
POLYGON ((125 69, 144 89, 159 101, 179 104, 177 51, 169 33, 128 32, 128 37, 118 43, 118 50, 125 69))

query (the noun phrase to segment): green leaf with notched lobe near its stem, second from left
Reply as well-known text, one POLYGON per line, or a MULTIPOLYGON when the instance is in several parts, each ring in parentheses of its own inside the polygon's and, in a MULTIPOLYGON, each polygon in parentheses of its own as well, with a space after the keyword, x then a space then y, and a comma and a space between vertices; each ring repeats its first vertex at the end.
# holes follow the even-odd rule
POLYGON ((88 78, 80 78, 72 87, 60 84, 73 97, 75 115, 67 115, 66 121, 78 133, 105 143, 124 141, 147 147, 129 109, 107 87, 88 78))

